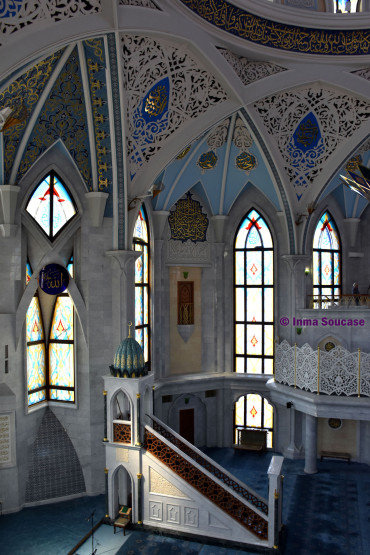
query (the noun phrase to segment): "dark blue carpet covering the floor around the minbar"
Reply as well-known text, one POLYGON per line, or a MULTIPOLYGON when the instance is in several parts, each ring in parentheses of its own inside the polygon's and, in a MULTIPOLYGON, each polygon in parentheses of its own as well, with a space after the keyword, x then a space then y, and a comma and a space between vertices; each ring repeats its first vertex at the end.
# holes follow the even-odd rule
MULTIPOLYGON (((271 454, 207 449, 206 453, 256 492, 267 496, 271 454)), ((343 461, 318 461, 318 474, 303 472, 304 461, 283 466, 284 555, 368 555, 370 553, 370 468, 343 461)), ((0 516, 1 555, 66 555, 89 531, 90 513, 104 516, 104 497, 83 497, 0 516)), ((112 529, 113 537, 113 529, 112 529)), ((232 539, 232 538, 229 538, 232 539)), ((161 534, 132 531, 120 555, 237 555, 226 549, 161 534)))

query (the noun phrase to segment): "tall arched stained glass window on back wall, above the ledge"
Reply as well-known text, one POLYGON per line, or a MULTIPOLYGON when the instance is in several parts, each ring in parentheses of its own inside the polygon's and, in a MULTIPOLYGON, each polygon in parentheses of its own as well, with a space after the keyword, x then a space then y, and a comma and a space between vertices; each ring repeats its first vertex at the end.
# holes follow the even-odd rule
POLYGON ((234 244, 235 372, 272 374, 274 251, 270 230, 252 209, 234 244))

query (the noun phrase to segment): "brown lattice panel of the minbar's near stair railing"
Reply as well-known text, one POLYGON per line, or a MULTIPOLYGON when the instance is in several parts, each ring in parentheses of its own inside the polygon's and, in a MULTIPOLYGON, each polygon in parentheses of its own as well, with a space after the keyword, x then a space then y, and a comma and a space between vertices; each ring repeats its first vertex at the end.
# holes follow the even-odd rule
POLYGON ((193 466, 148 430, 145 430, 145 444, 149 453, 176 472, 180 478, 197 489, 202 495, 257 537, 267 540, 267 520, 247 507, 241 500, 236 499, 221 485, 214 482, 212 478, 193 466))

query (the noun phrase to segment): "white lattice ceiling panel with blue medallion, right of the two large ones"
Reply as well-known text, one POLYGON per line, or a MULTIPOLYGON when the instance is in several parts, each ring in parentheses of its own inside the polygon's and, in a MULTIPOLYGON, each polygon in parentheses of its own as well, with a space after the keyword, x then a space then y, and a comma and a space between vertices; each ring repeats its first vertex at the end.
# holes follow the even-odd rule
POLYGON ((313 85, 254 105, 276 141, 298 201, 338 146, 370 117, 370 104, 313 85))

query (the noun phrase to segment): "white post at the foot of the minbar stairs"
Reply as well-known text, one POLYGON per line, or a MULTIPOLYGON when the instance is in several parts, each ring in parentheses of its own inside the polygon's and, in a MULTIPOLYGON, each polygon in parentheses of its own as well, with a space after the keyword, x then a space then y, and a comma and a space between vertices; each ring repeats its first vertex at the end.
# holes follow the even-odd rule
POLYGON ((283 476, 281 469, 284 457, 273 456, 267 471, 269 477, 269 547, 278 549, 282 526, 283 476))

